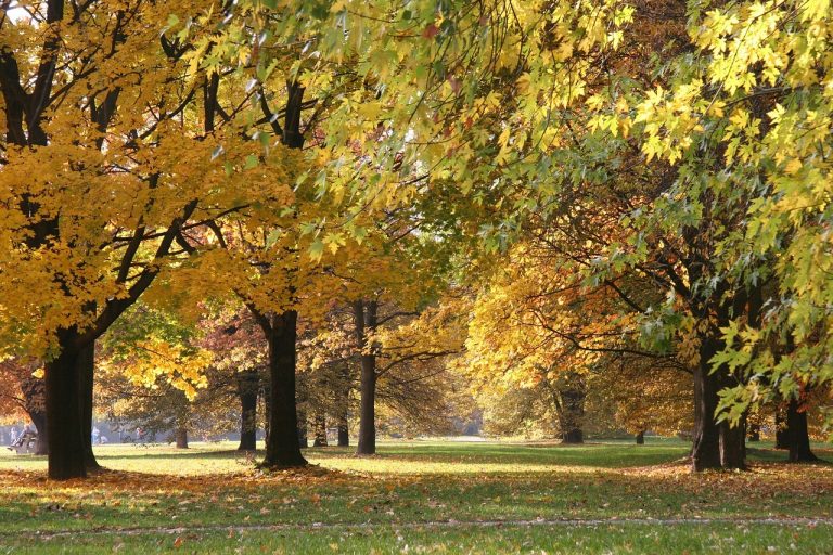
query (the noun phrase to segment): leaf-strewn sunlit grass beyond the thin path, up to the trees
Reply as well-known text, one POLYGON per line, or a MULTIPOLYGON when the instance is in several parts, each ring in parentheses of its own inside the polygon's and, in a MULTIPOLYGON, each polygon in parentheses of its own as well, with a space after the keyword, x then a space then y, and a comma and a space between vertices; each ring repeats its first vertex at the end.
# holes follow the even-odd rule
MULTIPOLYGON (((230 442, 105 446, 108 468, 55 482, 43 457, 0 455, 3 534, 227 526, 646 518, 833 517, 833 466, 771 462, 692 475, 688 444, 580 447, 383 442, 380 454, 309 449, 315 465, 261 472, 230 442)), ((833 457, 830 451, 820 454, 833 457)), ((783 453, 780 453, 783 457, 783 453)))

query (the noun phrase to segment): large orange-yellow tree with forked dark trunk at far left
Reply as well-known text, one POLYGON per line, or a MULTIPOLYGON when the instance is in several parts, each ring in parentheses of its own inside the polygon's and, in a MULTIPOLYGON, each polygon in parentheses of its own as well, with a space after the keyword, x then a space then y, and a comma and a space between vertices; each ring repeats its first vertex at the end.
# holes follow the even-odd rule
POLYGON ((52 0, 0 14, 1 333, 28 330, 22 350, 47 360, 52 478, 86 474, 95 339, 182 253, 183 233, 240 206, 234 169, 256 147, 233 125, 204 125, 200 93, 217 78, 194 74, 168 34, 175 12, 209 4, 52 0), (218 135, 226 168, 212 162, 218 135))

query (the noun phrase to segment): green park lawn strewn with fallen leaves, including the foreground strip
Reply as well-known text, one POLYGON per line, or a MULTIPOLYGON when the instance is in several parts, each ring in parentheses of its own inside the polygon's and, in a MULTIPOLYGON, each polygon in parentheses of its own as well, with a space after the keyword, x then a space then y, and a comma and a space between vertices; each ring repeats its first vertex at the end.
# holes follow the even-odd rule
POLYGON ((105 446, 112 472, 68 482, 2 449, 0 553, 833 553, 833 466, 767 443, 702 475, 656 438, 310 449, 279 473, 233 447, 105 446))

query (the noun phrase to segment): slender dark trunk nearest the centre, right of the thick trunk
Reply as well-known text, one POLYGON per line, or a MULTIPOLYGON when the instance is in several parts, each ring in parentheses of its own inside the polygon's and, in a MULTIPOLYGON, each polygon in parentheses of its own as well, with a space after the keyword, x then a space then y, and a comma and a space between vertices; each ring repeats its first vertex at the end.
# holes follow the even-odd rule
POLYGON ((359 444, 358 455, 372 455, 376 452, 376 356, 368 352, 367 330, 376 326, 376 304, 374 301, 354 302, 356 339, 360 351, 361 378, 359 401, 359 444))

